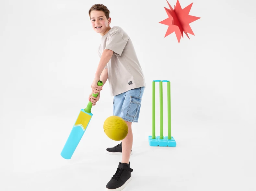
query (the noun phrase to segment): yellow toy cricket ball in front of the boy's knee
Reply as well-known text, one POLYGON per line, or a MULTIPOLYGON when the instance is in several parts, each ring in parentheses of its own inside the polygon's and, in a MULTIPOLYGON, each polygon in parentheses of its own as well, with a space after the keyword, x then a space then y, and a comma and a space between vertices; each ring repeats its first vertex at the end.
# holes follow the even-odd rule
POLYGON ((128 134, 127 123, 119 116, 108 117, 103 124, 103 129, 105 134, 114 141, 121 141, 128 134))

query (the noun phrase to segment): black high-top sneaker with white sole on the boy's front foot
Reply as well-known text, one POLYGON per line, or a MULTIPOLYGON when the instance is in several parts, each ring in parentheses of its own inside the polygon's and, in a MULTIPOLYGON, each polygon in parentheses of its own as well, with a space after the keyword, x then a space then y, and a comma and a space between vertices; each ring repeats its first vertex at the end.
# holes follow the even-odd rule
POLYGON ((132 180, 132 172, 130 162, 129 164, 119 163, 116 173, 106 186, 106 190, 121 191, 132 180))

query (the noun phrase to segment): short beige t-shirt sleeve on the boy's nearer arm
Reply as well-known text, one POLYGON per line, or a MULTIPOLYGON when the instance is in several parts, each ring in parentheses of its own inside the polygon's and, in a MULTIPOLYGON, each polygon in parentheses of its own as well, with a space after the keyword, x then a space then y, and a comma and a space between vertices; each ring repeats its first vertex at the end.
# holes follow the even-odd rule
POLYGON ((113 54, 121 56, 126 43, 127 41, 122 38, 122 35, 119 32, 113 31, 110 34, 105 49, 112 50, 114 52, 113 54))

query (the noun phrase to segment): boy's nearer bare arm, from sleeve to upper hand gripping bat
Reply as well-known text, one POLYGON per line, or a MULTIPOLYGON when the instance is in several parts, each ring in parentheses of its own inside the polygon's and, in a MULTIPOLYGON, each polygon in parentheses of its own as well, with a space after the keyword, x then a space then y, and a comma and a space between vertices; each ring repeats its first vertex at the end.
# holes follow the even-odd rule
MULTIPOLYGON (((109 50, 109 49, 105 49, 101 55, 101 58, 99 60, 99 65, 97 67, 96 73, 95 73, 95 77, 93 80, 93 83, 91 85, 92 87, 92 91, 94 94, 99 93, 99 91, 101 90, 101 87, 98 86, 98 81, 100 80, 100 75, 103 72, 105 66, 108 64, 108 62, 110 61, 111 57, 113 55, 113 51, 109 50)), ((107 79, 106 79, 107 81, 107 79)))

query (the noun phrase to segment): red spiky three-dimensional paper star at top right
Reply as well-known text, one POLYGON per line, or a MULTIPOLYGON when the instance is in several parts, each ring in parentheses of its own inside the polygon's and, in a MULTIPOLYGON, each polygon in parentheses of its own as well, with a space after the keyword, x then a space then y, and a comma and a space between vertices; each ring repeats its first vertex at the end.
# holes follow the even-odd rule
MULTIPOLYGON (((164 37, 170 35, 171 33, 175 32, 175 35, 178 39, 178 42, 180 43, 180 38, 182 36, 183 38, 183 31, 188 36, 188 33, 191 35, 194 35, 190 23, 196 21, 197 19, 200 19, 200 17, 191 16, 189 15, 190 9, 192 7, 192 4, 186 6, 184 9, 181 8, 179 0, 177 0, 176 6, 174 5, 174 9, 171 7, 169 2, 167 1, 170 9, 165 7, 165 11, 169 18, 159 22, 164 25, 169 25, 166 34, 164 37)), ((190 38, 189 38, 190 39, 190 38)))

